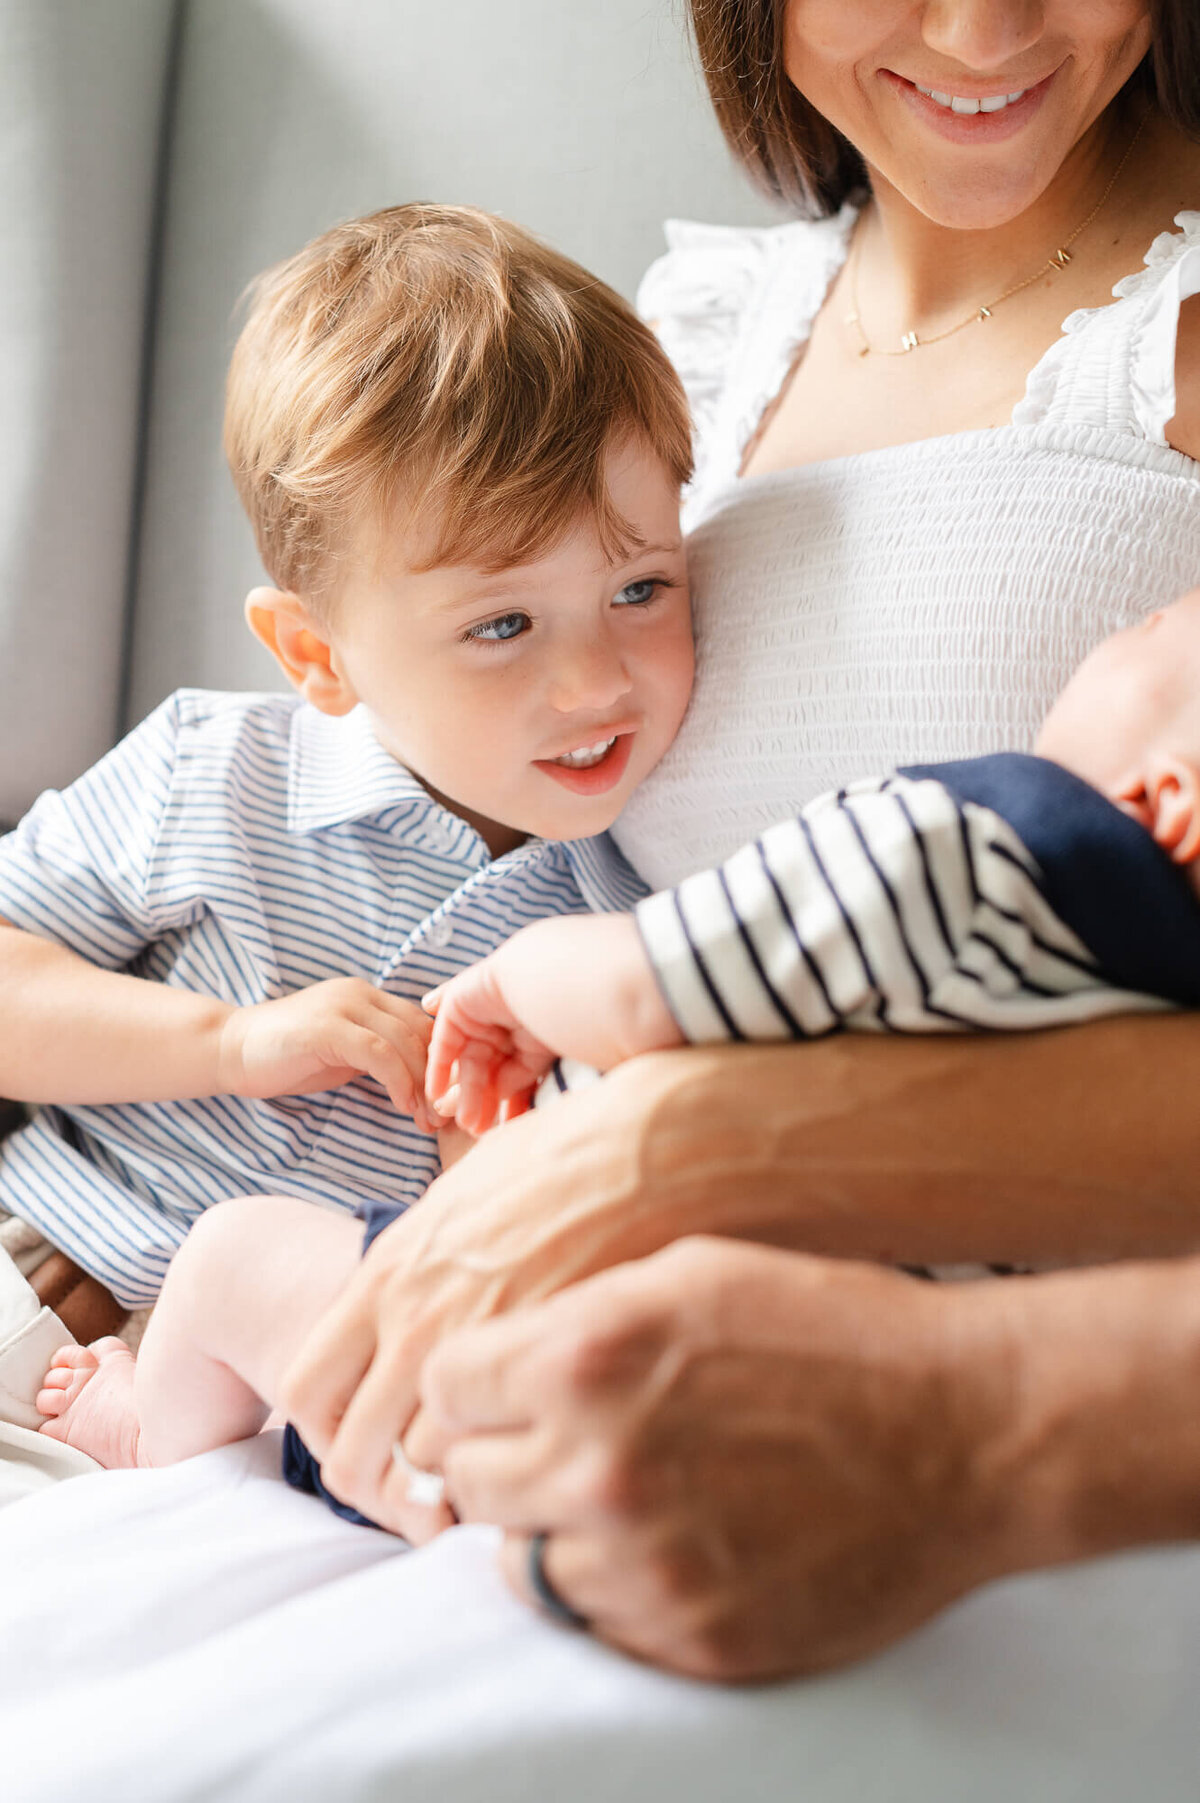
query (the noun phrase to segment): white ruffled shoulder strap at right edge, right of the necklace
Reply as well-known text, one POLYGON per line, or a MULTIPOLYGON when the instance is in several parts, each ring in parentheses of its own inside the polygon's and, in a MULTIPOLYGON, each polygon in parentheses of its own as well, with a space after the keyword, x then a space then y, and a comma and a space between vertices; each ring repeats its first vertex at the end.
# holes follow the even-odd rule
POLYGON ((1014 426, 1088 426, 1166 445, 1175 418, 1178 312, 1200 294, 1200 213, 1178 213, 1146 267, 1124 276, 1106 307, 1063 321, 1032 370, 1014 426))

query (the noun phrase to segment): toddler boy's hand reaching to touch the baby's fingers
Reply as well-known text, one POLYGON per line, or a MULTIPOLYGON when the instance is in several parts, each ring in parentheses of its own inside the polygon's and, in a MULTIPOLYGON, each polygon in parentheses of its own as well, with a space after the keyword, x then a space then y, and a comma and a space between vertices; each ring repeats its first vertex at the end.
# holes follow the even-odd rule
POLYGON ((303 1096, 373 1076, 423 1132, 445 1121, 425 1102, 425 1013, 359 977, 314 983, 294 995, 234 1008, 218 1048, 220 1093, 303 1096))

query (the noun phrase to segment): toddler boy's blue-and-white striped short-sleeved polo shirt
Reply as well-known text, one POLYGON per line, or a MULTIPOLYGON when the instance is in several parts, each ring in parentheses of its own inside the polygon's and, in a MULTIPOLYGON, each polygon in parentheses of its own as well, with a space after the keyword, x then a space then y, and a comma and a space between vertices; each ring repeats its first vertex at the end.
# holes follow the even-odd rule
MULTIPOLYGON (((632 907, 607 835, 492 858, 362 709, 182 689, 0 840, 0 916, 94 965, 238 1006, 326 977, 418 1001, 548 914, 632 907)), ((306 1096, 43 1107, 0 1149, 0 1206, 126 1305, 211 1203, 272 1190, 411 1203, 436 1141, 368 1076, 306 1096)))

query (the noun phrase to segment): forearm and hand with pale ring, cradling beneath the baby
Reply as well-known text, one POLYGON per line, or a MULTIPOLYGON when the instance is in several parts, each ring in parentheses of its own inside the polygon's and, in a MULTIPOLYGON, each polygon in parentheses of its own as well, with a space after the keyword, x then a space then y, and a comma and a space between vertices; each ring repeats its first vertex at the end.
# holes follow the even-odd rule
POLYGON ((330 1487, 414 1538, 391 1444, 452 1327, 676 1239, 1085 1262, 1200 1248, 1200 1020, 695 1048, 486 1134, 378 1237, 288 1374, 330 1487))

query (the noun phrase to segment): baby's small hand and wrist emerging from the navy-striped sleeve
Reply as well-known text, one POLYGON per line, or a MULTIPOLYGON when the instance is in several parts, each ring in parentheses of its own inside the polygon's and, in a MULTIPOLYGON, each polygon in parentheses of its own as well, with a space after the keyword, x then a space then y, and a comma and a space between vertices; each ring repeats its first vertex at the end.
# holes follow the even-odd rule
POLYGON ((602 1071, 683 1040, 631 914, 524 927, 425 997, 436 1015, 425 1096, 479 1134, 523 1114, 555 1058, 602 1071), (458 1085, 458 1096, 447 1093, 458 1085))

